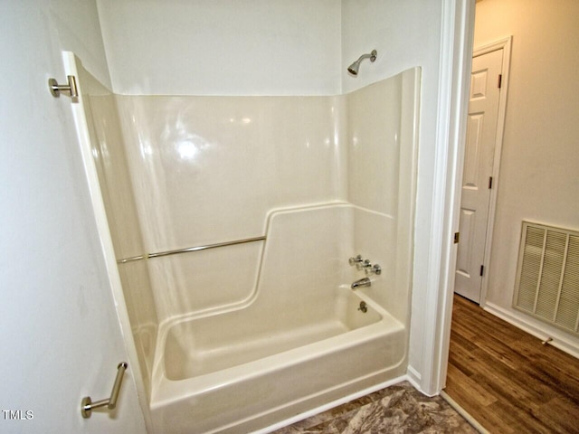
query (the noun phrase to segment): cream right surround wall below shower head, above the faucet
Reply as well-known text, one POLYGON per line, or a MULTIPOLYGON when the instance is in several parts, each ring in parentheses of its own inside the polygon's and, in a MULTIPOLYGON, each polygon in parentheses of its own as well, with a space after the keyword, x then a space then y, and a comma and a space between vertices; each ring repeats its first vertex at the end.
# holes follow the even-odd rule
POLYGON ((408 325, 421 70, 346 95, 347 201, 356 206, 354 252, 379 261, 365 291, 408 325))

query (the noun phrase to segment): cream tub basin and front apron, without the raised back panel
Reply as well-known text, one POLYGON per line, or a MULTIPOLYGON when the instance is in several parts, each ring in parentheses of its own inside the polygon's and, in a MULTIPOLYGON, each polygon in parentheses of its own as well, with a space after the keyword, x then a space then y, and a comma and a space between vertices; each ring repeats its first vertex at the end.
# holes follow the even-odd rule
POLYGON ((245 327, 237 315, 168 326, 151 402, 157 431, 251 432, 402 375, 403 325, 369 298, 337 292, 335 316, 299 328, 245 327))

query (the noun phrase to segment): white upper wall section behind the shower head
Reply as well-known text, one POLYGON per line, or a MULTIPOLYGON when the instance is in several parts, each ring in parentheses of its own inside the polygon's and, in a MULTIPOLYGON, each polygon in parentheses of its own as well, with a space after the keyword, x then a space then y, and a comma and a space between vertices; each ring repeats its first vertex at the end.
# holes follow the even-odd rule
MULTIPOLYGON (((422 99, 436 96, 441 2, 412 0, 344 0, 342 2, 342 91, 348 93, 401 71, 422 67, 422 99), (376 61, 362 61, 356 77, 347 66, 364 53, 378 52, 376 61)), ((430 101, 424 101, 429 104, 430 101)))

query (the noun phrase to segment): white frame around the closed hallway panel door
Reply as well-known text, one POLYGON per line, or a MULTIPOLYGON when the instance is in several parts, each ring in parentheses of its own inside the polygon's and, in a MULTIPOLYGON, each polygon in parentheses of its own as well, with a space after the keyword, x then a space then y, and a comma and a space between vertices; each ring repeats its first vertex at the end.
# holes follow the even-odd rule
POLYGON ((485 307, 487 304, 487 290, 489 288, 489 265, 490 253, 492 249, 492 234, 495 226, 495 214, 497 210, 497 195, 500 172, 500 159, 503 148, 503 136, 505 132, 505 118, 507 115, 507 94, 508 94, 508 72, 510 71, 510 52, 513 36, 508 36, 501 40, 490 42, 485 45, 474 48, 472 58, 479 57, 489 52, 503 51, 503 62, 500 73, 502 79, 500 83, 500 94, 498 96, 498 117, 497 117, 497 135, 495 136, 495 151, 492 159, 492 188, 490 189, 489 199, 489 217, 487 218, 487 235, 485 237, 485 250, 482 263, 485 265, 487 272, 482 275, 480 283, 480 301, 479 306, 485 307))

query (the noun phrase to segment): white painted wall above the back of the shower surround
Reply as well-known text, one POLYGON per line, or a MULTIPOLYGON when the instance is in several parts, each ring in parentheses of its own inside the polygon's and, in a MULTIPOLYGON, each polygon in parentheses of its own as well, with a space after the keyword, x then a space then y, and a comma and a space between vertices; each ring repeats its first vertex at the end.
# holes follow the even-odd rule
POLYGON ((115 93, 339 92, 339 0, 98 4, 115 93))

